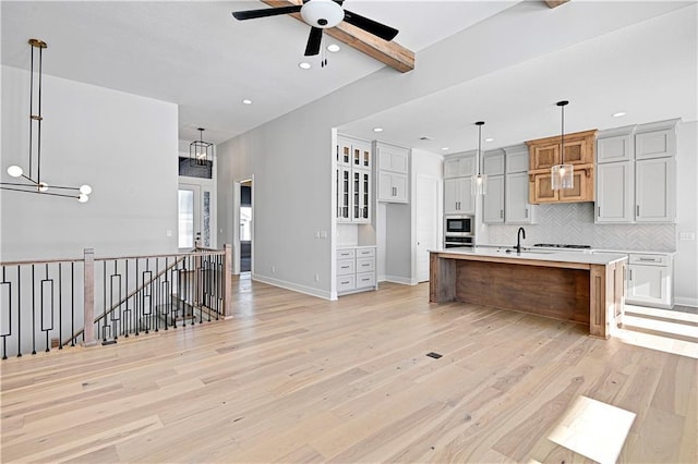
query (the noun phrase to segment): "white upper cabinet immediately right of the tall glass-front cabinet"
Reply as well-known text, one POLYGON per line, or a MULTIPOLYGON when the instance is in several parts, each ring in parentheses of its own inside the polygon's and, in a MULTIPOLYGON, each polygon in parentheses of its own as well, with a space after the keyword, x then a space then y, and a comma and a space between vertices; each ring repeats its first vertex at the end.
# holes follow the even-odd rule
POLYGON ((410 150, 383 142, 375 142, 378 159, 378 202, 408 203, 410 150))

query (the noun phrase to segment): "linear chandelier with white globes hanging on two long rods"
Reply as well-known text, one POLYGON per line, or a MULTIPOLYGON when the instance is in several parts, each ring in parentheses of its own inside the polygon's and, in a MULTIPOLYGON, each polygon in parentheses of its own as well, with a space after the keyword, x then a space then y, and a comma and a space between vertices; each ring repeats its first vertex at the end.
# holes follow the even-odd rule
POLYGON ((41 59, 43 51, 48 46, 44 40, 29 39, 32 46, 32 69, 29 74, 29 156, 27 171, 17 164, 8 168, 8 174, 17 179, 17 182, 1 182, 0 188, 3 191, 33 193, 50 196, 62 196, 67 198, 75 198, 80 203, 89 199, 92 187, 87 184, 80 187, 67 187, 60 185, 48 184, 41 179, 41 59), (37 52, 38 50, 38 52, 37 52), (38 70, 34 69, 34 56, 38 53, 38 70), (37 76, 37 85, 34 85, 34 76, 37 76), (35 103, 36 101, 36 103, 35 103), (36 131, 36 149, 34 147, 34 137, 36 131), (36 174, 36 176, 35 176, 36 174))

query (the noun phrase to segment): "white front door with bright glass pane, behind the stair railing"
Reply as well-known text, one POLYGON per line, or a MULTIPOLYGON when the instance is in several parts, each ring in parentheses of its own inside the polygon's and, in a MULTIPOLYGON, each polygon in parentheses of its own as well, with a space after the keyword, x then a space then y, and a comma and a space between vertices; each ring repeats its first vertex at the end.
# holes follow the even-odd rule
POLYGON ((196 184, 179 184, 178 247, 191 251, 196 244, 210 247, 210 192, 196 184))

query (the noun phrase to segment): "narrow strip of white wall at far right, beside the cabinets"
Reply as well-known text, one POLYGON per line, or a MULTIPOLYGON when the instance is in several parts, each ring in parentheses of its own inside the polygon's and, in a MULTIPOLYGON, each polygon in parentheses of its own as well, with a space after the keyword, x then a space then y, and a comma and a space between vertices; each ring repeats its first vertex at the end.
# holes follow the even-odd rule
POLYGON ((676 156, 676 257, 674 261, 674 302, 698 306, 698 122, 679 125, 676 156), (681 240, 682 232, 694 234, 694 240, 681 240))

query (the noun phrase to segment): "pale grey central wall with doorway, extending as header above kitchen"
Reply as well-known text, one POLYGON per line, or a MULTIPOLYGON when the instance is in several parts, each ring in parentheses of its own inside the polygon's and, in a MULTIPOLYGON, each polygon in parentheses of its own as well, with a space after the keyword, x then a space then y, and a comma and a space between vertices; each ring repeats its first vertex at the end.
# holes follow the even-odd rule
MULTIPOLYGON (((521 2, 507 14, 481 22, 419 51, 416 69, 409 73, 382 69, 221 144, 218 147, 221 168, 218 210, 219 227, 224 232, 219 243, 233 236, 231 183, 254 174, 254 277, 330 297, 335 234, 328 234, 328 240, 316 240, 313 235, 315 230, 332 231, 334 224, 333 130, 618 27, 610 17, 600 17, 591 7, 579 10, 575 22, 565 22, 564 28, 557 27, 557 23, 547 14, 541 15, 540 5, 533 3, 521 2), (502 34, 512 21, 527 21, 530 30, 544 30, 544 37, 530 34, 512 40, 502 34), (454 60, 462 54, 462 50, 472 50, 473 44, 483 42, 488 46, 481 52, 454 60), (229 159, 224 161, 225 157, 229 159), (320 274, 320 282, 313 280, 315 273, 320 274)), ((628 10, 624 17, 627 24, 633 24, 660 14, 666 4, 658 2, 653 8, 655 11, 651 13, 628 10)), ((380 245, 380 230, 376 234, 380 245)))

